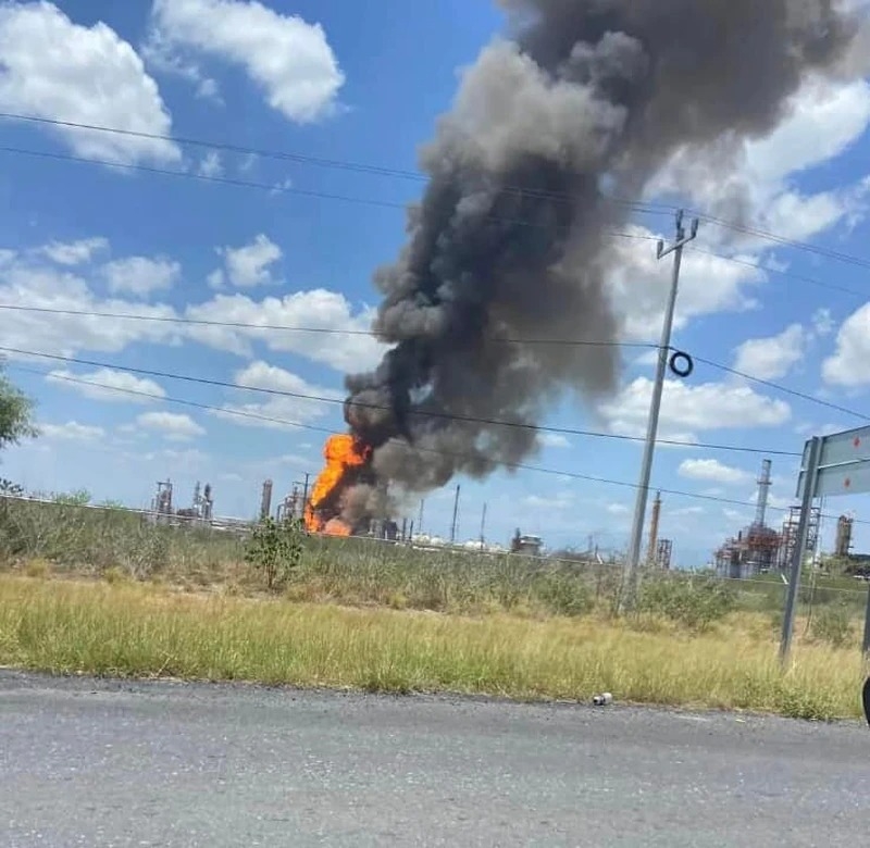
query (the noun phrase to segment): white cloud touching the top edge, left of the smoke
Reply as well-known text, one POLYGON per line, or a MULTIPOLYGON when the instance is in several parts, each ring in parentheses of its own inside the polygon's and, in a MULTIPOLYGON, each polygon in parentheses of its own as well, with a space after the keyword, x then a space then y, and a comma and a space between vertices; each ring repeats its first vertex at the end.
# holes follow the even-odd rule
POLYGON ((156 0, 159 38, 241 65, 285 117, 331 114, 345 78, 319 24, 282 15, 257 0, 156 0))

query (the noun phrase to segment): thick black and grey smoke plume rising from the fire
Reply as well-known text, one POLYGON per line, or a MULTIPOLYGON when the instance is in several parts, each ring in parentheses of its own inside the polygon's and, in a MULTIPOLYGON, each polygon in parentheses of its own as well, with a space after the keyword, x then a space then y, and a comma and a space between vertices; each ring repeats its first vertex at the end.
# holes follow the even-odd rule
MULTIPOLYGON (((566 389, 614 390, 617 348, 547 344, 619 340, 608 234, 631 209, 609 198, 641 196, 679 151, 769 134, 857 32, 833 0, 499 4, 509 35, 465 72, 422 150, 407 244, 375 274, 391 349, 347 378, 351 432, 406 491, 521 461, 566 389)), ((345 502, 356 520, 369 500, 345 502)))

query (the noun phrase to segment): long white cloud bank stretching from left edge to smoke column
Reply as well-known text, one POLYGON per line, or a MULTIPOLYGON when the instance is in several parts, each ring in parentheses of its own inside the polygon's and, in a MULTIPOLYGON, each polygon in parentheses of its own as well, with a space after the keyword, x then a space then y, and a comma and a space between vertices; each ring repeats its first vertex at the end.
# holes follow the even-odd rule
MULTIPOLYGON (((69 357, 83 350, 116 353, 142 342, 178 346, 190 338, 251 358, 257 341, 272 351, 296 353, 341 373, 373 367, 386 350, 371 335, 371 310, 355 312, 336 291, 313 289, 262 301, 240 294, 222 295, 188 304, 179 313, 167 304, 99 297, 84 272, 59 269, 44 259, 45 253, 46 248, 26 255, 0 251, 0 303, 78 314, 16 312, 14 321, 0 324, 1 346, 69 357), (89 312, 159 320, 112 320, 89 312), (184 325, 171 321, 176 317, 251 326, 184 325), (294 327, 299 329, 294 332, 294 327)), ((96 275, 101 279, 99 272, 96 275)))

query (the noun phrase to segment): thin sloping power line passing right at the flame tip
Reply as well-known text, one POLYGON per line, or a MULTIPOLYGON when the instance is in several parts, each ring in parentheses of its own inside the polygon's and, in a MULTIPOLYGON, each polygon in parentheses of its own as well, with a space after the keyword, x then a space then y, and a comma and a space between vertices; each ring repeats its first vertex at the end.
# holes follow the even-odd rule
MULTIPOLYGON (((15 369, 17 371, 23 371, 23 372, 30 373, 30 374, 38 374, 38 375, 44 376, 44 377, 50 376, 50 372, 40 371, 39 369, 29 369, 29 367, 26 367, 24 365, 17 365, 17 364, 12 365, 11 367, 13 367, 13 369, 15 369)), ((194 409, 206 410, 206 411, 209 411, 209 412, 216 412, 216 413, 220 413, 220 414, 235 415, 237 417, 243 417, 243 419, 253 419, 253 420, 258 420, 258 421, 265 421, 265 422, 270 422, 270 423, 274 423, 274 424, 281 424, 281 425, 284 425, 284 426, 298 427, 300 429, 306 429, 306 431, 310 431, 310 432, 314 432, 314 433, 323 433, 325 435, 331 435, 331 436, 335 435, 334 431, 327 429, 325 427, 318 427, 318 426, 315 426, 313 424, 302 424, 302 423, 299 423, 299 422, 286 421, 284 419, 277 419, 277 417, 273 417, 273 416, 270 416, 270 415, 260 415, 258 413, 252 413, 252 412, 243 411, 243 410, 225 409, 225 408, 222 408, 222 407, 214 407, 214 406, 211 406, 211 404, 208 404, 208 403, 199 403, 199 402, 191 401, 191 400, 186 400, 186 399, 183 399, 183 398, 173 398, 173 397, 167 397, 167 396, 163 396, 163 395, 156 395, 153 392, 140 391, 138 389, 122 388, 122 387, 119 387, 119 386, 105 386, 104 384, 97 383, 95 381, 80 379, 80 378, 77 378, 77 377, 69 377, 69 376, 65 376, 65 375, 58 376, 57 379, 62 379, 62 381, 67 382, 67 383, 76 383, 76 384, 80 384, 80 385, 91 386, 91 387, 100 388, 100 389, 108 390, 108 391, 117 391, 117 392, 124 394, 124 395, 132 395, 132 396, 137 396, 137 397, 142 397, 142 398, 149 398, 151 400, 162 401, 164 403, 174 403, 174 404, 177 404, 177 406, 190 407, 190 408, 194 408, 194 409)), ((399 441, 399 440, 396 440, 396 441, 399 441)), ((442 449, 438 449, 438 448, 425 448, 425 447, 421 447, 421 446, 414 446, 414 450, 418 450, 418 451, 423 452, 423 453, 434 453, 436 456, 452 457, 455 459, 460 459, 460 460, 462 460, 462 459, 464 459, 464 460, 473 459, 468 453, 460 453, 460 452, 456 452, 456 451, 447 451, 447 450, 442 450, 442 449)), ((570 471, 564 471, 564 470, 559 470, 559 469, 548 469, 548 467, 545 467, 545 466, 531 465, 531 464, 522 463, 522 462, 502 462, 502 463, 499 463, 499 464, 502 467, 505 467, 506 470, 510 470, 510 471, 530 471, 530 472, 534 472, 534 473, 537 473, 537 474, 547 474, 547 475, 550 475, 550 476, 558 476, 558 477, 562 477, 562 478, 567 477, 569 479, 583 481, 583 482, 586 482, 586 483, 600 483, 600 484, 607 485, 607 486, 617 486, 617 487, 620 487, 620 488, 629 488, 629 489, 636 489, 637 488, 637 484, 636 483, 627 483, 625 481, 618 481, 618 479, 612 479, 612 478, 609 478, 609 477, 597 477, 597 476, 593 476, 593 475, 589 475, 589 474, 580 474, 577 472, 570 472, 570 471)), ((741 507, 743 509, 748 509, 749 507, 751 507, 750 502, 737 500, 735 498, 722 498, 722 497, 718 497, 718 496, 714 496, 714 495, 700 495, 700 494, 694 492, 694 491, 682 491, 680 489, 668 489, 668 488, 661 488, 661 487, 658 487, 658 486, 656 486, 655 488, 658 491, 661 491, 663 495, 672 495, 674 497, 689 498, 689 499, 694 499, 694 500, 703 500, 703 501, 709 501, 709 502, 714 502, 714 503, 730 504, 730 506, 741 507)), ((769 509, 772 510, 773 512, 783 512, 783 513, 788 512, 788 509, 784 508, 784 507, 770 506, 769 509)), ((825 515, 823 517, 831 519, 832 516, 825 515)), ((860 521, 858 519, 856 519, 855 522, 857 524, 870 524, 870 522, 860 521)))

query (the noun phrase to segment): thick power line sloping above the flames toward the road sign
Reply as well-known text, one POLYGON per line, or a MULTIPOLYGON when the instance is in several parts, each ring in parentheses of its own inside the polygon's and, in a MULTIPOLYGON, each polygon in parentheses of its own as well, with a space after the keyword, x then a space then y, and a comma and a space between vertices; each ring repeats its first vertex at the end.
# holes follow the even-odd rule
MULTIPOLYGON (((214 386, 219 388, 228 388, 233 390, 240 390, 240 391, 252 391, 256 394, 261 395, 269 395, 272 397, 284 397, 284 398, 294 398, 296 400, 309 400, 314 401, 318 403, 328 403, 328 404, 345 404, 345 400, 337 399, 337 398, 330 398, 323 395, 309 395, 306 392, 300 391, 287 391, 284 389, 272 389, 272 388, 264 388, 262 386, 248 386, 245 384, 237 384, 237 383, 229 383, 227 381, 222 379, 212 379, 209 377, 196 377, 192 375, 187 374, 176 374, 173 372, 165 372, 165 371, 156 371, 153 369, 138 369, 133 367, 129 365, 115 365, 109 362, 100 362, 98 360, 89 360, 83 359, 79 357, 64 357, 58 353, 44 353, 39 351, 32 351, 32 350, 22 350, 20 348, 11 348, 11 347, 0 347, 0 351, 7 353, 15 353, 17 356, 24 357, 37 357, 40 359, 50 359, 58 362, 65 362, 70 364, 76 365, 88 365, 90 367, 102 367, 115 371, 124 371, 130 374, 139 374, 142 376, 148 377, 160 377, 163 379, 177 379, 185 383, 196 383, 198 385, 204 386, 214 386)), ((384 412, 390 412, 391 408, 378 404, 378 403, 366 403, 366 402, 358 402, 355 401, 355 404, 361 407, 363 409, 374 409, 384 412)), ((445 421, 458 421, 469 424, 487 424, 492 426, 498 427, 509 427, 513 429, 524 429, 524 431, 534 431, 535 433, 546 433, 551 435, 563 435, 563 436, 579 436, 584 438, 601 438, 601 439, 610 439, 613 441, 644 441, 643 438, 639 436, 625 436, 616 433, 600 433, 597 431, 587 431, 587 429, 575 429, 571 427, 548 427, 543 425, 536 424, 525 424, 523 422, 514 422, 514 421, 501 421, 498 419, 485 419, 478 417, 474 415, 460 415, 456 413, 449 412, 425 412, 425 411, 412 411, 408 413, 409 415, 415 415, 419 417, 426 417, 426 419, 436 419, 436 420, 445 420, 445 421)), ((800 457, 800 453, 795 451, 784 451, 784 450, 760 450, 758 448, 749 448, 743 447, 737 445, 716 445, 709 442, 695 442, 695 441, 685 441, 685 440, 678 440, 678 439, 659 439, 659 444, 661 445, 669 445, 671 447, 685 447, 685 448, 695 448, 697 450, 722 450, 722 451, 730 451, 735 453, 755 453, 755 454, 770 454, 770 456, 779 456, 779 457, 800 457)))

